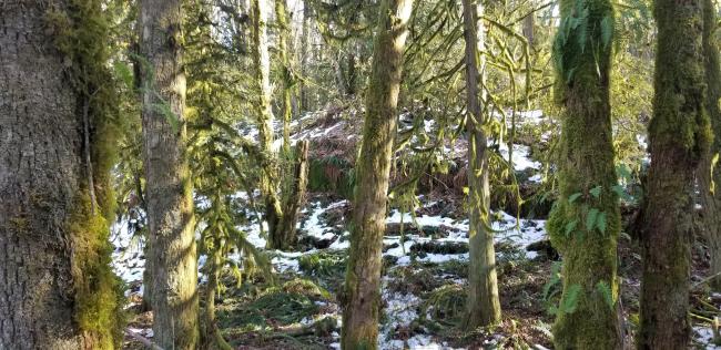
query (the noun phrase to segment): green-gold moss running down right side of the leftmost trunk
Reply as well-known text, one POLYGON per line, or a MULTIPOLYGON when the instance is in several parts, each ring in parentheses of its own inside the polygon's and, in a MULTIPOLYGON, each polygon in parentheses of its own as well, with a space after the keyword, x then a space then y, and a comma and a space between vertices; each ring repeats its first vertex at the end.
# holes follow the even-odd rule
POLYGON ((71 246, 74 320, 93 349, 113 349, 122 340, 124 303, 121 280, 111 268, 109 220, 114 217, 110 168, 116 162, 121 127, 114 79, 106 68, 108 14, 102 2, 69 0, 49 7, 45 21, 64 55, 67 80, 77 92, 82 159, 78 193, 67 228, 71 246), (90 163, 90 164, 89 164, 90 163))

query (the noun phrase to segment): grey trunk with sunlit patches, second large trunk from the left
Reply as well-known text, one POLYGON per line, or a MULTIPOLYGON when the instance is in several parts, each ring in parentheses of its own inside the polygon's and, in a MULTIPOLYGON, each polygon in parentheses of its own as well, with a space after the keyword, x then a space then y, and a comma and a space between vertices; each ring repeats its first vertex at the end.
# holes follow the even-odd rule
POLYGON ((152 272, 154 342, 197 347, 197 258, 192 183, 185 155, 185 75, 177 0, 143 0, 143 156, 152 272))

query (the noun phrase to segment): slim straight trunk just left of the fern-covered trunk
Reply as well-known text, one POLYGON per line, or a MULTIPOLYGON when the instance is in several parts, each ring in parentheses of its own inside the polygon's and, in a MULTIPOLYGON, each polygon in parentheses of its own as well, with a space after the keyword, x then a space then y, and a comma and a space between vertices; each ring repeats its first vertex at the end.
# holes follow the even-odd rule
POLYGON ((498 278, 496 274, 496 249, 494 235, 489 229, 490 191, 488 187, 488 144, 484 131, 479 89, 483 86, 484 29, 480 1, 464 0, 464 28, 466 40, 466 93, 468 116, 468 207, 470 226, 468 231, 470 264, 468 265, 468 310, 465 319, 467 329, 500 322, 498 278))

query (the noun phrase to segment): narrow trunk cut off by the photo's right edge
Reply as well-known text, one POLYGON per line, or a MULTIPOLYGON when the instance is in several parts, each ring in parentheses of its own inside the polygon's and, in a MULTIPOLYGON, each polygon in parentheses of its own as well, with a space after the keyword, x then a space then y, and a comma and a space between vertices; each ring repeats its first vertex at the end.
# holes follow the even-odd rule
POLYGON ((719 66, 719 41, 715 35, 717 16, 715 6, 711 0, 703 0, 703 55, 705 64, 707 96, 705 109, 709 113, 713 134, 710 152, 703 157, 699 171, 699 185, 701 186, 701 202, 703 205, 703 220, 705 237, 711 255, 711 269, 709 274, 711 288, 721 291, 721 70, 719 66))

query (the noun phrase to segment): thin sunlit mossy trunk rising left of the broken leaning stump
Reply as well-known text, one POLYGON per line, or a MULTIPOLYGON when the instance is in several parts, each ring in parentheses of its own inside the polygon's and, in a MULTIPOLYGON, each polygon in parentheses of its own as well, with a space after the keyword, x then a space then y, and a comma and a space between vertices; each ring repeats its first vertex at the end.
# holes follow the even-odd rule
MULTIPOLYGON (((278 0, 281 1, 281 0, 278 0)), ((251 20, 253 22, 253 65, 255 68, 256 125, 261 150, 271 156, 273 162, 265 162, 261 175, 261 193, 265 198, 265 220, 268 225, 268 244, 271 248, 281 248, 274 243, 277 235, 283 208, 278 196, 278 172, 275 153, 273 152, 273 110, 271 109, 271 59, 267 49, 267 0, 251 1, 251 20)), ((290 111, 290 110, 288 110, 290 111)))

